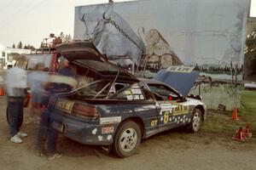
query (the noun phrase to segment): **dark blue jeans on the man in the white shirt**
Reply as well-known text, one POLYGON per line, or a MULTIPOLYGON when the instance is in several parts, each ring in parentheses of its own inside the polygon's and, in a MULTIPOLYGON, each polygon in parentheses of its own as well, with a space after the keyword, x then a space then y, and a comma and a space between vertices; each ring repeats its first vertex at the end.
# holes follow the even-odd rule
POLYGON ((24 97, 8 97, 8 120, 11 137, 20 131, 23 122, 24 97))

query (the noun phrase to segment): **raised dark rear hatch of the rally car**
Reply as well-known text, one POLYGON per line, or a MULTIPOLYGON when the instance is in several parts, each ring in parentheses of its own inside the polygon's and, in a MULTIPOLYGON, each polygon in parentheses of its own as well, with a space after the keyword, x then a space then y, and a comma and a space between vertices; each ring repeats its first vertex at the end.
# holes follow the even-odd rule
POLYGON ((114 79, 119 75, 118 79, 138 82, 129 71, 110 63, 90 41, 62 43, 56 46, 56 51, 71 63, 84 66, 102 77, 114 79))

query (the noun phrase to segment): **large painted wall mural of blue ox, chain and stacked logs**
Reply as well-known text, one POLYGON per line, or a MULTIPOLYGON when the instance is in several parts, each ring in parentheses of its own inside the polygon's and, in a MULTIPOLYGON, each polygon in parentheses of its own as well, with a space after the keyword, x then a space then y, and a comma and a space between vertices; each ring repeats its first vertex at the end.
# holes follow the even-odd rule
POLYGON ((201 71, 201 89, 191 91, 207 103, 219 92, 210 108, 226 105, 231 110, 240 103, 248 8, 249 0, 80 6, 75 8, 74 38, 90 39, 113 63, 132 65, 139 77, 154 77, 172 65, 194 66, 201 71), (224 98, 230 99, 228 104, 224 98))

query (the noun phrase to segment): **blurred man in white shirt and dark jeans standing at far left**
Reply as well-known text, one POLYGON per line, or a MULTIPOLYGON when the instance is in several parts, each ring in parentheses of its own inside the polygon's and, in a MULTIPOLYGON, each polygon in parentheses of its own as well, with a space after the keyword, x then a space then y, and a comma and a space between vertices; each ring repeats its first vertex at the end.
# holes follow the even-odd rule
POLYGON ((10 129, 10 141, 14 143, 22 143, 26 133, 20 132, 23 122, 23 105, 26 97, 27 76, 23 69, 26 65, 26 57, 20 56, 17 65, 7 71, 6 88, 8 99, 8 119, 10 129))

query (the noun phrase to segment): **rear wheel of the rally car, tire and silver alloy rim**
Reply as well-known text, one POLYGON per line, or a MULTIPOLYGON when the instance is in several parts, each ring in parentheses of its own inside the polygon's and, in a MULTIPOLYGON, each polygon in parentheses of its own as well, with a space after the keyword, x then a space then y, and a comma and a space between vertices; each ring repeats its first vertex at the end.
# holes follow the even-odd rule
POLYGON ((119 157, 132 156, 141 143, 141 137, 141 128, 136 122, 122 122, 113 138, 113 153, 119 157))

